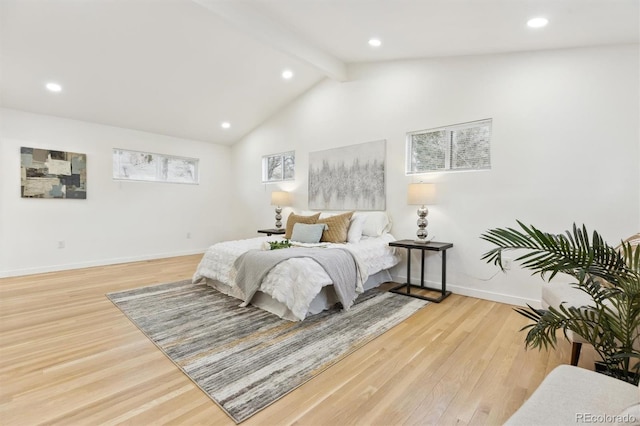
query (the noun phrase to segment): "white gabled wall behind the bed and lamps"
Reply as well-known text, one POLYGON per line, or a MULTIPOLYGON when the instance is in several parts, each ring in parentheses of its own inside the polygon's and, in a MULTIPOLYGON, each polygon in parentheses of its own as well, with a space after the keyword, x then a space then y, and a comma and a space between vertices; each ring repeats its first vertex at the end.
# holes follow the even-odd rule
MULTIPOLYGON (((294 207, 307 208, 309 152, 386 139, 393 234, 415 234, 407 184, 435 182, 428 229, 454 243, 450 289, 535 303, 539 278, 519 268, 495 275, 479 235, 516 219, 551 232, 584 223, 613 243, 640 230, 638 75, 637 45, 352 66, 349 81, 320 83, 234 145, 237 234, 273 225, 272 190, 293 191, 294 207), (491 171, 405 176, 406 132, 483 118, 493 118, 491 171), (292 149, 295 182, 261 184, 261 156, 292 149)), ((439 262, 429 256, 430 281, 439 262)))

